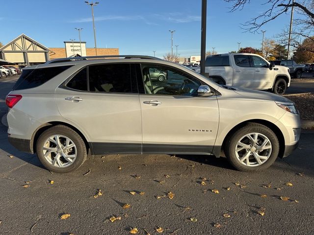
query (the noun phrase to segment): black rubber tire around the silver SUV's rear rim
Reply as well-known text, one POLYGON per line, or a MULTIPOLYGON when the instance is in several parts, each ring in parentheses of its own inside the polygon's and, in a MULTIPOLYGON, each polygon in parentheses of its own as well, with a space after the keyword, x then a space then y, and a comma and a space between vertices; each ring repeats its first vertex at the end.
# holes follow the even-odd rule
POLYGON ((40 160, 40 162, 48 170, 51 170, 51 171, 54 171, 57 173, 66 173, 66 172, 70 172, 70 171, 74 171, 74 170, 78 169, 78 167, 80 167, 85 162, 86 157, 87 157, 86 145, 85 145, 84 141, 82 140, 82 138, 78 135, 77 132, 72 130, 70 127, 67 127, 64 125, 56 125, 56 126, 49 128, 48 130, 44 131, 39 136, 39 138, 36 142, 36 153, 37 153, 37 156, 38 156, 38 159, 40 160), (45 156, 43 153, 43 146, 45 144, 45 141, 53 135, 66 136, 69 139, 71 139, 73 141, 73 143, 76 145, 77 157, 74 160, 74 162, 72 164, 70 164, 69 166, 65 166, 62 168, 57 167, 57 166, 50 164, 45 159, 45 156))

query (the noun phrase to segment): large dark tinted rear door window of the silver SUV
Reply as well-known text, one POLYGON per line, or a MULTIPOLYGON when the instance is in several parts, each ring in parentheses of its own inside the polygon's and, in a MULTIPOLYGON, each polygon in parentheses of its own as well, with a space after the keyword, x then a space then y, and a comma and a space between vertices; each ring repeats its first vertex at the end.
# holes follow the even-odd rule
POLYGON ((130 64, 92 65, 88 74, 90 91, 132 92, 130 64))

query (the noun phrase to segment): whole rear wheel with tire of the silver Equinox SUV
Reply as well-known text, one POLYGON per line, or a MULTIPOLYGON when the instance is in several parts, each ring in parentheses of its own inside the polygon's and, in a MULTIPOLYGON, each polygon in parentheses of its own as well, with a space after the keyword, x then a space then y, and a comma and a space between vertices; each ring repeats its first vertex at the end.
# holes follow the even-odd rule
POLYGON ((64 125, 53 126, 44 131, 36 143, 36 152, 47 169, 58 173, 77 169, 87 157, 82 138, 64 125))

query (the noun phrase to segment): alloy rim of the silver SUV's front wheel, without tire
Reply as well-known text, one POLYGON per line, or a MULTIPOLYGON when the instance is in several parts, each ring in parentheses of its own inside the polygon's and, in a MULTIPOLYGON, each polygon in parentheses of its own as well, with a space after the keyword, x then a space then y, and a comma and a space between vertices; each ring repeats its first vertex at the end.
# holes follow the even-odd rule
POLYGON ((236 159, 245 166, 264 164, 271 155, 272 145, 261 133, 249 133, 242 136, 235 145, 236 159))

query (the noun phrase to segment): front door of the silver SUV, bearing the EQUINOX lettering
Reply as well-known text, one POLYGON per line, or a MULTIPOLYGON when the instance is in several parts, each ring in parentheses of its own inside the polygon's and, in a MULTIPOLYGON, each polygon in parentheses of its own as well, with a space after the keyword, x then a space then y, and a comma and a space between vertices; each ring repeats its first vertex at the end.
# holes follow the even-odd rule
POLYGON ((142 64, 139 74, 143 153, 210 154, 219 122, 215 94, 198 97, 198 87, 206 84, 175 68, 142 64), (152 80, 154 69, 167 79, 152 80))

